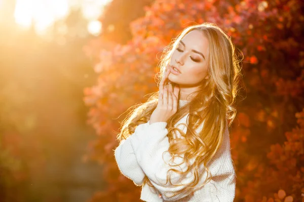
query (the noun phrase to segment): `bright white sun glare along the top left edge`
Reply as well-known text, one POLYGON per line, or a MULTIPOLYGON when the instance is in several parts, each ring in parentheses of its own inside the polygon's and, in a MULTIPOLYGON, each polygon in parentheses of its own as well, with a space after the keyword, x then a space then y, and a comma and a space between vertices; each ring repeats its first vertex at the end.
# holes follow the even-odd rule
POLYGON ((109 2, 110 0, 16 0, 14 18, 17 24, 25 28, 33 26, 37 33, 44 34, 56 20, 66 17, 71 7, 78 7, 84 18, 89 20, 89 33, 98 35, 101 23, 96 20, 109 2))

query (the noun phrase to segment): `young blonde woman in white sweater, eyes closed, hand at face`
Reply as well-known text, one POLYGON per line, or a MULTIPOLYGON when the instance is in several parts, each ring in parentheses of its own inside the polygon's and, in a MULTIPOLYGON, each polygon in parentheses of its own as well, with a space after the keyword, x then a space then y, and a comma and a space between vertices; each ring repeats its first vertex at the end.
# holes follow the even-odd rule
POLYGON ((122 122, 118 167, 142 185, 144 201, 233 202, 235 46, 213 23, 185 28, 172 44, 162 57, 159 92, 122 122))

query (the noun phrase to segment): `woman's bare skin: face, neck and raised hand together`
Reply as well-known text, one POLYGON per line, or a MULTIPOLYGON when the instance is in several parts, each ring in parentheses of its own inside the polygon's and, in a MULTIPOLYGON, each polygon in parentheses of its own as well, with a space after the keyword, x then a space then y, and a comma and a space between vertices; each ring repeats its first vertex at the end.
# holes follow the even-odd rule
POLYGON ((150 125, 167 122, 177 112, 179 99, 192 99, 187 95, 198 90, 203 79, 208 79, 207 54, 208 40, 201 31, 191 31, 182 38, 160 82, 158 105, 151 114, 150 125), (180 73, 173 74, 172 66, 180 73))

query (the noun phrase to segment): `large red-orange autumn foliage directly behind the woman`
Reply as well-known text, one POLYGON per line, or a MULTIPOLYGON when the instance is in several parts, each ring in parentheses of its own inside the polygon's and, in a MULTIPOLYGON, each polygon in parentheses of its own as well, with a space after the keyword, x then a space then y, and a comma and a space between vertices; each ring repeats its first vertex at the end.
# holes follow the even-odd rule
POLYGON ((163 48, 183 28, 203 22, 231 35, 244 55, 244 88, 230 134, 235 201, 304 201, 303 2, 155 1, 144 10, 130 23, 126 44, 100 36, 86 47, 98 74, 84 98, 97 134, 89 157, 103 164, 108 183, 91 201, 139 201, 139 187, 119 173, 113 157, 119 121, 158 90, 154 75, 163 48))

